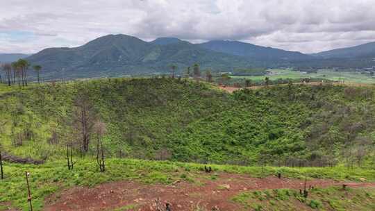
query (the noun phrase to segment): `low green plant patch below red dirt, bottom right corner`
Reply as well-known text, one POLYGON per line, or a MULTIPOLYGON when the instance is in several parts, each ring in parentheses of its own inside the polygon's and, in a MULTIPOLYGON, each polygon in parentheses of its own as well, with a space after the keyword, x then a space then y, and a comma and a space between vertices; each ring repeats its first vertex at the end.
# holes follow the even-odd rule
POLYGON ((375 189, 342 187, 308 190, 308 198, 295 189, 266 189, 238 194, 233 198, 253 210, 374 210, 375 189))

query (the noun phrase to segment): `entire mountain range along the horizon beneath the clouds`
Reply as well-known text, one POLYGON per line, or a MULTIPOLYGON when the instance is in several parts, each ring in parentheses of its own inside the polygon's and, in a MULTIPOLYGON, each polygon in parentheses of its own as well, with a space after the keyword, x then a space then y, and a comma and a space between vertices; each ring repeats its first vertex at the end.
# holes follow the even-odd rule
POLYGON ((374 58, 375 42, 308 55, 238 41, 192 44, 175 37, 160 37, 146 42, 119 34, 99 37, 81 47, 44 49, 26 59, 42 65, 51 78, 76 78, 167 73, 172 64, 181 72, 194 63, 213 71, 281 66, 372 67, 374 58))

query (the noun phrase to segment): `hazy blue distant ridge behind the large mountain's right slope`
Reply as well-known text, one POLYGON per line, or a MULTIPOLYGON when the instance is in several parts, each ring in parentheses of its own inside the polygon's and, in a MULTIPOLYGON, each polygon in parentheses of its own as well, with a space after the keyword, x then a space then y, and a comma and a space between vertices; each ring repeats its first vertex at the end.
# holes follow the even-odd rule
POLYGON ((228 53, 236 56, 244 56, 254 60, 288 62, 312 58, 311 56, 296 51, 284 51, 281 49, 261 47, 255 44, 238 41, 215 40, 198 45, 204 49, 210 49, 212 51, 228 53))

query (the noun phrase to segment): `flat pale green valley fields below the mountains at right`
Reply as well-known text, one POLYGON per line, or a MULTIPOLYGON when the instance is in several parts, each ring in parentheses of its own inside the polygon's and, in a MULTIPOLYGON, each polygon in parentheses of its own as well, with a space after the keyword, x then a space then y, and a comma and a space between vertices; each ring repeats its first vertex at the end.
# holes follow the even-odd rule
MULTIPOLYGON (((375 83, 375 78, 369 76, 369 74, 358 74, 347 71, 332 71, 322 69, 317 71, 317 73, 306 74, 301 71, 292 71, 290 69, 269 69, 272 74, 267 75, 270 80, 274 81, 279 78, 282 79, 299 79, 299 78, 321 78, 328 81, 344 81, 344 83, 365 83, 373 84, 375 83)), ((263 81, 265 76, 233 76, 232 78, 249 78, 253 81, 263 81)))

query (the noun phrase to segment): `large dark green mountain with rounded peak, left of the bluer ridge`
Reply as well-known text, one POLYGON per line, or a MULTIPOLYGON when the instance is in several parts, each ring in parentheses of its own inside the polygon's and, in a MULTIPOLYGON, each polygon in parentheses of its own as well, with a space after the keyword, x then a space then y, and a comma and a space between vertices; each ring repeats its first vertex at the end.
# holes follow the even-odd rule
POLYGON ((42 65, 54 78, 165 73, 172 63, 180 69, 194 63, 215 69, 254 65, 244 58, 201 49, 189 42, 170 42, 169 39, 144 42, 128 35, 107 35, 81 47, 44 49, 27 59, 32 64, 42 65), (162 42, 164 44, 155 44, 162 42))

